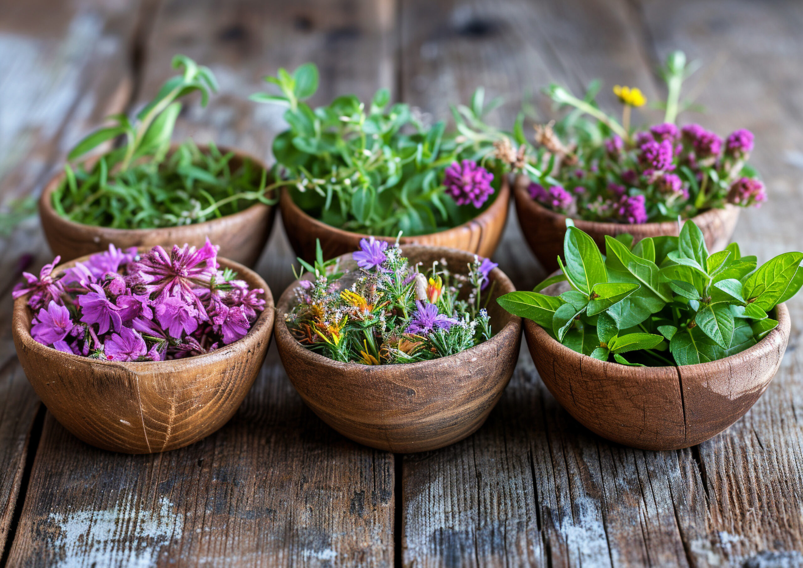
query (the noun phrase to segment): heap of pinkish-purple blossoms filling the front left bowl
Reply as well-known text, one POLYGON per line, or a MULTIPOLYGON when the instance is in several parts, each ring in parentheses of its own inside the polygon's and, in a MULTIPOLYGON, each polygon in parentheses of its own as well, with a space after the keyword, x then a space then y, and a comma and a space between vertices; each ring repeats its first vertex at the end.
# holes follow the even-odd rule
POLYGON ((31 337, 108 361, 165 361, 201 355, 246 336, 265 307, 262 288, 220 270, 218 247, 153 247, 92 255, 59 274, 56 257, 24 273, 14 298, 30 294, 31 337))

